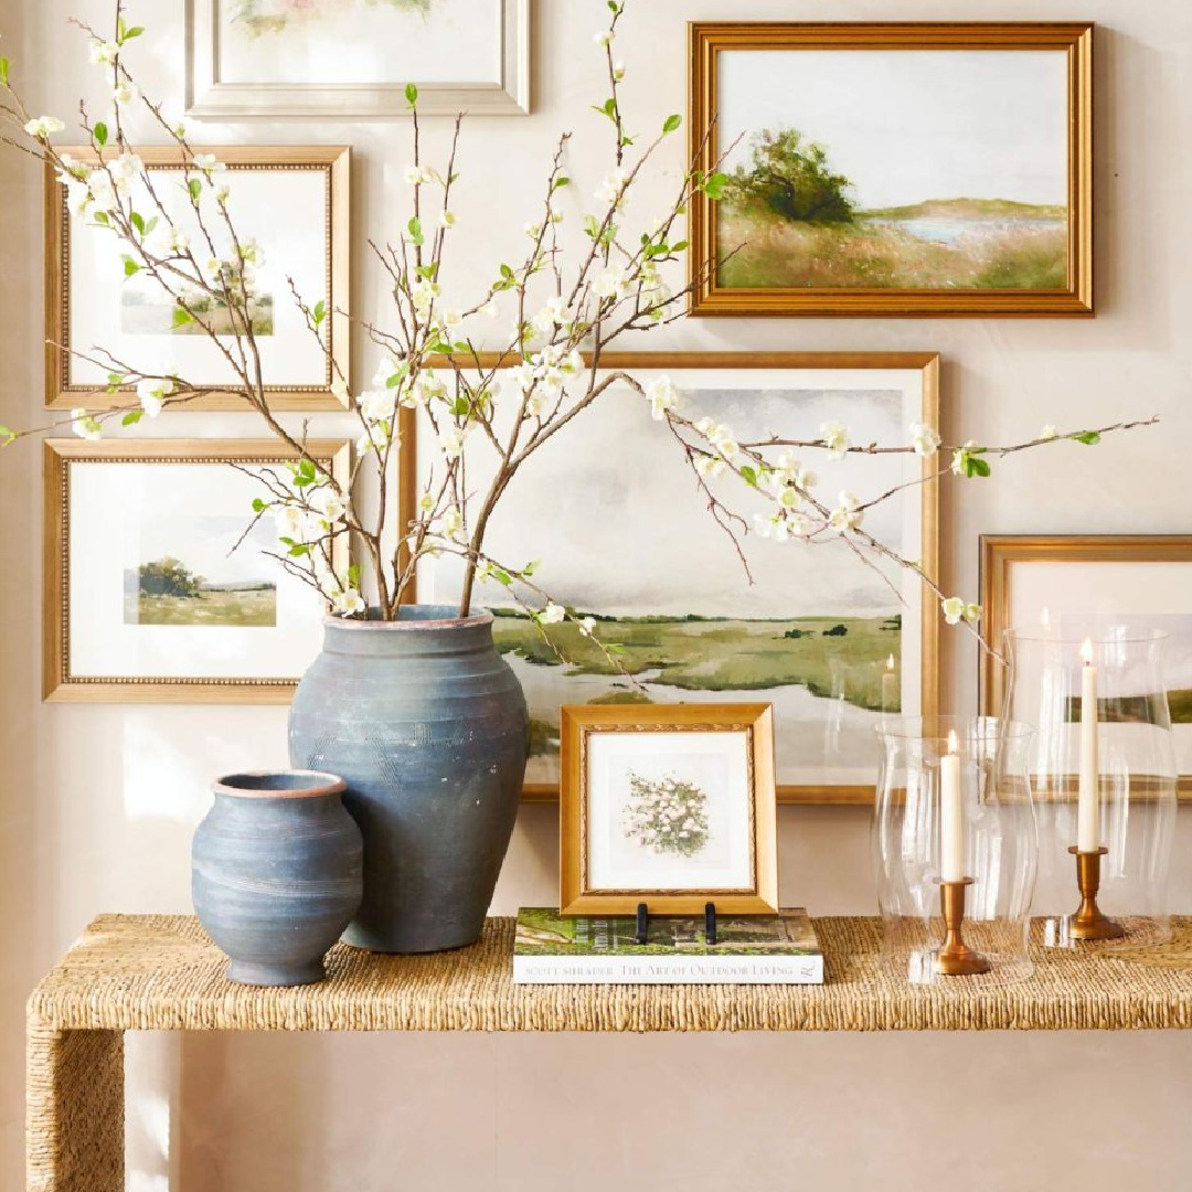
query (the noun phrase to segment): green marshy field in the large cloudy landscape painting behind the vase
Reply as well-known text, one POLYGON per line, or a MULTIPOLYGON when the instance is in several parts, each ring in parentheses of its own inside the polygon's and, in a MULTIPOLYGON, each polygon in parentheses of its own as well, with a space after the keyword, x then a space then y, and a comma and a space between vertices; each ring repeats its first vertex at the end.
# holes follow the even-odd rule
MULTIPOLYGON (((590 640, 571 622, 540 628, 524 615, 499 610, 493 638, 503 654, 533 668, 557 668, 560 703, 682 701, 691 691, 749 699, 751 691, 800 687, 867 712, 895 713, 898 691, 886 676, 890 656, 898 666, 900 631, 898 616, 597 617, 590 640)), ((554 753, 558 713, 535 712, 532 753, 554 753)))

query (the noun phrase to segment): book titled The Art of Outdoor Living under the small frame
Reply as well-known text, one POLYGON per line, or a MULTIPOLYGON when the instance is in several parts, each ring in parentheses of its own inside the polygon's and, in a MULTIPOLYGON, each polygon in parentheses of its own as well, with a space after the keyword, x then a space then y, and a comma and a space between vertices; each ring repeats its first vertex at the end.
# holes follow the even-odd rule
POLYGON ((824 954, 803 909, 725 915, 709 944, 703 917, 651 917, 645 944, 632 915, 563 918, 548 907, 517 915, 520 985, 822 985, 824 954))

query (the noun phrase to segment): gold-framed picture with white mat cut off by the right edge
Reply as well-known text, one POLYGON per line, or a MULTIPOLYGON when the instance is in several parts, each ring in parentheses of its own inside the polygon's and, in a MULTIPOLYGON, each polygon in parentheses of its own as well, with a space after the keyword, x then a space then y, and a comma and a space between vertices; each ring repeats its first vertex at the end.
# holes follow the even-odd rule
MULTIPOLYGON (((1064 638, 1115 625, 1165 633, 1179 793, 1192 797, 1192 534, 988 535, 981 604, 998 651, 1010 628, 1047 626, 1064 638)), ((982 652, 982 713, 1001 715, 1006 681, 1006 666, 982 652)))

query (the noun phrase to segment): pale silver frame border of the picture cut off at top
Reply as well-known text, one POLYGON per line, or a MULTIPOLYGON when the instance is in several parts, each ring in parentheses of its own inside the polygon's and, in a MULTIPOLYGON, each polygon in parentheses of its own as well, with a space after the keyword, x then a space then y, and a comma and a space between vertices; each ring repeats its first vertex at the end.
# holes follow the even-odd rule
MULTIPOLYGON (((186 0, 186 114, 199 120, 396 120, 409 117, 404 83, 225 83, 218 79, 219 0, 186 0)), ((502 81, 418 82, 418 116, 529 116, 534 12, 501 0, 502 81)))

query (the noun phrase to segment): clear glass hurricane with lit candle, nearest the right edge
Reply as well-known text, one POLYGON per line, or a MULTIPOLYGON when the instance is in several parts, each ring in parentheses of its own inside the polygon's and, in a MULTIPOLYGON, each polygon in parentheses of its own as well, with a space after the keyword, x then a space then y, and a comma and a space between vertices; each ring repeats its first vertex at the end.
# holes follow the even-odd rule
POLYGON ((1082 949, 1160 944, 1171 938, 1177 806, 1165 634, 1092 619, 1081 628, 1005 635, 1006 715, 1037 730, 1028 774, 1039 938, 1082 949))

